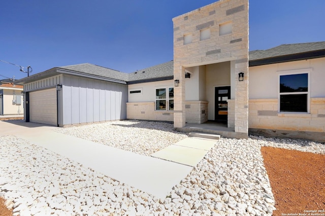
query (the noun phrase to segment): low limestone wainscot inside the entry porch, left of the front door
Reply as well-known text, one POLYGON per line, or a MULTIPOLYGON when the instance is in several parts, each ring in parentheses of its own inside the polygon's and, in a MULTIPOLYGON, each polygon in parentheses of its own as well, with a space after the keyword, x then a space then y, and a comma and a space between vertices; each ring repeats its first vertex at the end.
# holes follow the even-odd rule
POLYGON ((202 124, 208 121, 208 103, 207 101, 186 101, 186 122, 202 124))

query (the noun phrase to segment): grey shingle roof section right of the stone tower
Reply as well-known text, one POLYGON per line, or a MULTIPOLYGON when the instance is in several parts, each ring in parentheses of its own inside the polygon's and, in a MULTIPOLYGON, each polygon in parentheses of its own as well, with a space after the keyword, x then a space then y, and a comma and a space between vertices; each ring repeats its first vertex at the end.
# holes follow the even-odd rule
POLYGON ((249 52, 249 60, 252 61, 257 59, 292 55, 316 50, 325 50, 325 42, 282 44, 268 50, 254 50, 249 52))

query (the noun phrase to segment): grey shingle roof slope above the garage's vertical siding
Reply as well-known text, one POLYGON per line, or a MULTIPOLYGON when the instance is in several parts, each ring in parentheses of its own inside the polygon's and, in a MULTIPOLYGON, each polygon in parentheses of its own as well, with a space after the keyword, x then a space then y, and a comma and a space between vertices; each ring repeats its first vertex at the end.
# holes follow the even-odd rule
POLYGON ((126 73, 90 63, 61 66, 57 68, 68 69, 72 71, 78 71, 84 74, 101 76, 122 81, 127 81, 128 79, 128 74, 126 73))

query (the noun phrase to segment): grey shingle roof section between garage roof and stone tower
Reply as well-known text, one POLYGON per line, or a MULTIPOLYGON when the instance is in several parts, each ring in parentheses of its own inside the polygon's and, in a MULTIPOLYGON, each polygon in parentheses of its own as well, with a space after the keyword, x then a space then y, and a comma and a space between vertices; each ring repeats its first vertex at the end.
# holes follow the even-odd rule
POLYGON ((148 80, 174 76, 174 61, 168 61, 128 74, 128 81, 148 80))

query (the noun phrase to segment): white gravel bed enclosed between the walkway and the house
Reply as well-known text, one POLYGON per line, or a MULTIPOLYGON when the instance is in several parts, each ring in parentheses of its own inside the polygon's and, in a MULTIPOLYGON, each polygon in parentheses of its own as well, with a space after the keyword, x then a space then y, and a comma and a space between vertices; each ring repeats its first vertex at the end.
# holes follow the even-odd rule
POLYGON ((173 124, 150 121, 113 121, 55 131, 146 156, 187 137, 173 124))

